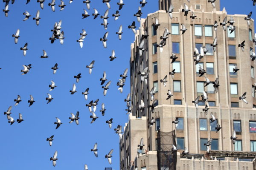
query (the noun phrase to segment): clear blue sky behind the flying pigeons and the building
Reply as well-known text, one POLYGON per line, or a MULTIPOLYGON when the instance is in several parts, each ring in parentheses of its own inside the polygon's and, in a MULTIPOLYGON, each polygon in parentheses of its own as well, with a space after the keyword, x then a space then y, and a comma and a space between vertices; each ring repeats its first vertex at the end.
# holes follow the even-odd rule
MULTIPOLYGON (((116 3, 118 0, 111 0, 111 9, 108 19, 108 41, 107 48, 103 48, 99 41, 105 34, 102 19, 99 17, 93 20, 93 8, 96 8, 100 14, 104 14, 107 6, 101 0, 91 0, 90 10, 82 0, 64 0, 67 5, 63 11, 60 11, 56 0, 55 12, 52 12, 48 6, 50 0, 44 3, 44 10, 40 8, 39 3, 31 0, 25 5, 26 0, 15 0, 13 5, 9 4, 9 16, 5 17, 0 13, 1 22, 1 56, 0 56, 0 108, 1 111, 7 111, 10 105, 13 106, 12 117, 16 120, 18 113, 23 114, 24 121, 20 124, 15 122, 12 126, 8 124, 6 115, 0 119, 0 169, 3 170, 82 170, 84 164, 87 164, 90 170, 103 170, 104 167, 113 167, 119 170, 119 136, 114 132, 114 128, 127 122, 128 116, 125 114, 124 98, 130 92, 130 81, 127 78, 122 94, 117 90, 116 82, 119 75, 123 74, 125 68, 129 68, 130 44, 134 40, 134 33, 128 29, 132 21, 136 21, 133 16, 138 11, 139 0, 124 0, 125 6, 120 10, 121 16, 114 21, 112 14, 118 9, 116 3), (81 19, 81 14, 86 9, 91 15, 88 18, 81 19), (40 10, 40 24, 36 26, 36 11, 40 10), (29 11, 32 17, 24 21, 23 12, 29 11), (50 44, 55 22, 62 20, 62 29, 65 34, 64 44, 59 41, 50 44), (116 31, 120 24, 123 26, 122 40, 118 40, 116 31), (14 43, 12 34, 20 29, 20 38, 18 43, 14 43), (87 31, 87 37, 84 39, 84 47, 80 48, 76 40, 80 37, 82 29, 87 31), (28 42, 26 57, 23 57, 20 47, 28 42), (47 51, 49 58, 41 59, 42 50, 47 51), (116 51, 116 59, 109 61, 112 50, 116 51), (95 60, 92 74, 88 73, 86 65, 95 60), (58 63, 58 71, 52 74, 51 67, 58 63), (22 65, 32 64, 32 69, 26 75, 21 75, 22 65), (107 79, 111 80, 110 89, 106 96, 103 96, 99 79, 106 71, 107 79), (74 75, 81 73, 82 78, 76 83, 74 75), (55 82, 57 88, 49 91, 48 85, 51 80, 55 82), (73 83, 76 83, 77 93, 70 95, 73 83), (85 101, 81 94, 86 88, 90 88, 88 100, 85 101), (45 98, 47 93, 54 98, 48 105, 45 98), (14 106, 14 99, 17 95, 21 96, 22 102, 14 106), (29 95, 34 96, 35 103, 29 106, 27 102, 29 95), (90 113, 85 104, 90 100, 99 99, 96 115, 99 116, 93 124, 90 124, 90 113), (99 110, 102 102, 105 103, 105 116, 102 116, 99 110), (80 112, 79 125, 75 122, 69 124, 70 112, 80 112), (55 130, 55 117, 61 119, 63 125, 55 130), (113 118, 112 129, 109 129, 105 123, 106 120, 113 118), (47 137, 54 135, 52 146, 46 141, 47 137), (98 158, 93 152, 95 142, 98 142, 98 158), (112 165, 105 159, 107 154, 113 149, 112 165), (49 160, 55 150, 58 150, 58 161, 56 167, 52 166, 49 160)), ((222 0, 221 9, 225 6, 228 14, 249 14, 256 6, 252 5, 251 0, 222 0)), ((0 3, 0 8, 4 8, 4 3, 0 3)), ((157 0, 148 0, 145 7, 142 8, 143 17, 146 14, 158 10, 157 0)), ((3 113, 2 113, 3 114, 3 113)))

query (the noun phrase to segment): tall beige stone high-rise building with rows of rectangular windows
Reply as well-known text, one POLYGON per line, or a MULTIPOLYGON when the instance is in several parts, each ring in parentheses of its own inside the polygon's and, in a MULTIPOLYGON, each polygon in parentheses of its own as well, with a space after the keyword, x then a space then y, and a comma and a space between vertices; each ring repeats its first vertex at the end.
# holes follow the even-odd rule
MULTIPOLYGON (((256 63, 250 58, 255 51, 254 20, 250 26, 244 20, 246 15, 229 15, 225 8, 220 11, 220 0, 215 1, 215 8, 207 0, 172 0, 174 11, 172 19, 166 10, 171 0, 159 0, 159 11, 148 14, 140 22, 134 43, 131 44, 130 79, 132 113, 125 124, 120 139, 120 170, 255 170, 256 162, 256 96, 255 68, 256 63), (184 3, 189 11, 187 17, 182 9, 184 3), (190 17, 192 11, 195 19, 190 17), (233 17, 235 31, 230 33, 230 23, 226 31, 220 25, 224 18, 233 17), (155 19, 160 26, 155 30, 155 19), (218 22, 217 31, 212 25, 218 22), (181 24, 187 28, 181 34, 181 24), (169 30, 166 45, 160 52, 165 28, 169 30), (148 34, 143 38, 143 34, 148 34), (213 51, 211 44, 217 38, 217 48, 213 51), (238 47, 245 40, 244 51, 238 47), (145 41, 143 54, 140 56, 140 43, 145 41), (201 47, 208 51, 195 65, 193 52, 200 52, 201 47), (172 53, 178 58, 172 62, 172 53), (199 77, 199 65, 206 73, 199 77), (236 73, 233 68, 239 68, 236 73), (148 75, 142 81, 138 74, 148 67, 148 75), (174 77, 169 72, 175 69, 174 77), (166 86, 160 82, 167 75, 166 86), (215 92, 213 84, 205 87, 207 77, 214 82, 218 77, 219 88, 215 92), (148 92, 156 88, 154 113, 151 112, 151 101, 148 92), (167 98, 168 90, 173 96, 167 98), (206 102, 202 101, 203 91, 208 94, 206 102), (239 100, 246 94, 248 104, 239 100), (200 96, 198 109, 192 102, 200 96), (139 107, 141 100, 145 108, 139 107), (203 111, 208 105, 208 114, 203 111), (211 121, 212 116, 215 121, 211 121), (155 123, 150 127, 151 118, 155 123), (179 118, 178 126, 175 121, 179 118), (216 133, 217 123, 222 127, 216 133), (236 131, 236 143, 230 136, 236 131), (138 150, 143 138, 144 150, 138 150), (209 153, 204 145, 212 139, 209 153), (177 153, 171 151, 172 144, 177 153), (187 148, 189 154, 182 156, 187 148)), ((250 12, 250 11, 249 11, 250 12)))

